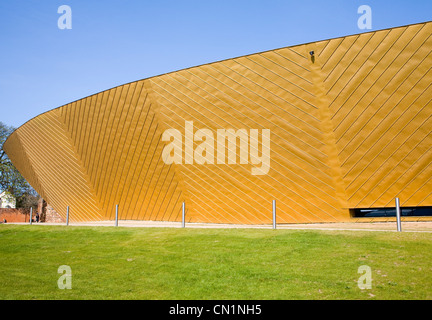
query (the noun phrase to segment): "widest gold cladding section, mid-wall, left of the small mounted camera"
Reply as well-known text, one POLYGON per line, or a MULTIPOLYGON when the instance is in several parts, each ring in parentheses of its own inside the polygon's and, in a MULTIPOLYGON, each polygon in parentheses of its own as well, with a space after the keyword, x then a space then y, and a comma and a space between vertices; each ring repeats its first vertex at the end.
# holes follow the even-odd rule
POLYGON ((273 199, 281 222, 336 221, 343 214, 323 143, 310 61, 299 52, 306 49, 250 55, 151 79, 164 129, 184 132, 185 121, 193 121, 195 130, 212 132, 271 130, 266 176, 251 175, 250 164, 177 166, 192 203, 189 215, 197 222, 211 216, 220 223, 268 223, 273 199), (293 75, 298 82, 286 80, 293 75))

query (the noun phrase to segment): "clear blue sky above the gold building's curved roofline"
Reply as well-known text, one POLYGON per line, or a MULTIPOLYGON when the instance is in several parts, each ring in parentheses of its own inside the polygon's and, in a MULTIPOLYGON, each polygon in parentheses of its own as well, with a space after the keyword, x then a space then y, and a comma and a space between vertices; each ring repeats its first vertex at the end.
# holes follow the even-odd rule
POLYGON ((245 54, 432 20, 430 0, 0 0, 0 121, 245 54), (59 6, 72 29, 59 29, 59 6), (372 9, 361 30, 357 9, 372 9))

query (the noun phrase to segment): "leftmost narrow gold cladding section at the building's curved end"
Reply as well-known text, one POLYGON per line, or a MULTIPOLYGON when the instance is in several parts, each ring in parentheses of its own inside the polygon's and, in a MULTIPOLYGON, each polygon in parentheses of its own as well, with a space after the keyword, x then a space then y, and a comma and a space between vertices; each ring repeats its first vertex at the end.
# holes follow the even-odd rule
MULTIPOLYGON (((27 175, 25 167, 19 170, 22 169, 31 182, 36 182, 33 186, 63 218, 66 207, 70 206, 71 221, 102 219, 88 177, 60 121, 60 112, 60 109, 47 112, 27 122, 17 132, 15 139, 19 139, 34 174, 27 175), (69 196, 65 198, 65 194, 69 196)), ((15 153, 12 151, 10 155, 19 166, 15 153)))

